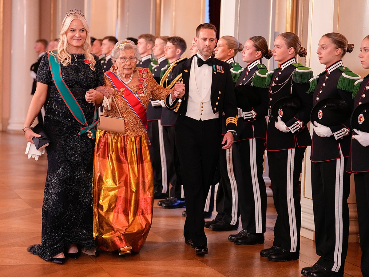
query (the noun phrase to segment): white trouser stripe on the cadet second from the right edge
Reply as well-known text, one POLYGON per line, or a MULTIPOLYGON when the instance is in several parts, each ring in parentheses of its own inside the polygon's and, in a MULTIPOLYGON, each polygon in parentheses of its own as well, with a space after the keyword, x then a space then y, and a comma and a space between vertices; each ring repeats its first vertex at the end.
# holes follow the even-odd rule
POLYGON ((332 271, 338 272, 341 267, 342 260, 342 196, 343 196, 343 178, 344 178, 344 155, 342 154, 341 145, 339 145, 339 158, 336 162, 336 185, 335 185, 335 247, 333 256, 332 271))

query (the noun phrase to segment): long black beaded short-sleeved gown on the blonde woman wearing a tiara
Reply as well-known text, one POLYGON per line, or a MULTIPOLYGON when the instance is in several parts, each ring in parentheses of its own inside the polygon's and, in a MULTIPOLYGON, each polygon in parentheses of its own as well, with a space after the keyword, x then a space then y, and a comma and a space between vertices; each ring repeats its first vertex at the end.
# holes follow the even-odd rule
MULTIPOLYGON (((103 69, 97 56, 95 70, 83 54, 72 55, 69 66, 61 65, 62 78, 92 123, 94 105, 85 100, 86 91, 104 85, 103 69)), ((91 249, 93 225, 93 153, 95 140, 78 135, 83 127, 73 117, 56 89, 47 53, 37 71, 37 82, 49 85, 44 127, 52 143, 46 148, 48 171, 42 204, 41 244, 28 247, 44 260, 63 252, 70 243, 91 249)))

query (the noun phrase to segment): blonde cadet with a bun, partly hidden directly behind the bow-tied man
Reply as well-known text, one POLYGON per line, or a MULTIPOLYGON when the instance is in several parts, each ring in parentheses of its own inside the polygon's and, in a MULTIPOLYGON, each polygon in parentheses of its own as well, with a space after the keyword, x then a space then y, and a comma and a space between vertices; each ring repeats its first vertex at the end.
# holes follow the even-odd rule
MULTIPOLYGON (((242 44, 235 37, 226 35, 218 40, 214 57, 230 65, 232 80, 235 83, 242 72, 241 66, 234 57, 242 51, 242 44)), ((223 68, 219 68, 223 71, 223 68)), ((222 135, 227 132, 225 118, 223 118, 222 135)), ((235 178, 235 164, 233 161, 234 148, 221 149, 219 157, 220 180, 215 202, 217 216, 205 222, 205 227, 212 231, 230 231, 238 229, 238 193, 237 179, 235 178)))

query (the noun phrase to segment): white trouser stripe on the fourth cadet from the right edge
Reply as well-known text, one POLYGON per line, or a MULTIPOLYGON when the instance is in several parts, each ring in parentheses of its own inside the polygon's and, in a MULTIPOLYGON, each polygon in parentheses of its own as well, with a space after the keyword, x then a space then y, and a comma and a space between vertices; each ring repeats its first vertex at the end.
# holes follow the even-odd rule
POLYGON ((256 139, 252 138, 249 140, 250 146, 250 169, 251 169, 251 181, 252 190, 254 191, 254 202, 255 202, 255 232, 263 232, 262 216, 261 216, 261 198, 260 188, 258 179, 258 169, 256 167, 256 139))

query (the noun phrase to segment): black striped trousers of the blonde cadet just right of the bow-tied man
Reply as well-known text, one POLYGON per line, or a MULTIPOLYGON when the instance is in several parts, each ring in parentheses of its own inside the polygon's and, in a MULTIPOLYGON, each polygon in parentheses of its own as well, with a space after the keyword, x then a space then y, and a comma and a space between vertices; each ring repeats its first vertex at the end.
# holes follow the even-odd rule
POLYGON ((223 220, 231 225, 238 225, 238 185, 235 177, 233 151, 233 147, 230 149, 220 148, 220 180, 215 201, 217 210, 215 219, 223 220))

